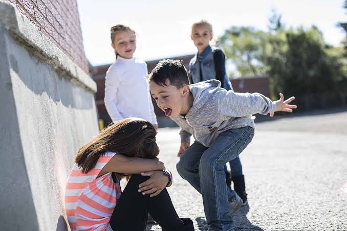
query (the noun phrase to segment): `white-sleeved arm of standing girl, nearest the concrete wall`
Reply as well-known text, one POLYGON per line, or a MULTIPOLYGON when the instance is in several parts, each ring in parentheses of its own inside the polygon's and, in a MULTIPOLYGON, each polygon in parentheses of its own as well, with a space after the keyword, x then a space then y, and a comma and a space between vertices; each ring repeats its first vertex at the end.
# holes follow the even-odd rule
POLYGON ((118 87, 121 83, 120 78, 113 69, 106 73, 104 103, 107 113, 109 113, 113 122, 124 119, 118 110, 116 98, 118 87))

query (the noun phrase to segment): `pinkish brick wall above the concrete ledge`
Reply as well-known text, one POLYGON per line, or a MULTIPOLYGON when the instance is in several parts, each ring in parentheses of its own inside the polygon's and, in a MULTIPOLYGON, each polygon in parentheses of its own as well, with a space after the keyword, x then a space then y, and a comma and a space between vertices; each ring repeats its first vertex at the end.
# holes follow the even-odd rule
POLYGON ((88 73, 75 0, 6 0, 88 73))

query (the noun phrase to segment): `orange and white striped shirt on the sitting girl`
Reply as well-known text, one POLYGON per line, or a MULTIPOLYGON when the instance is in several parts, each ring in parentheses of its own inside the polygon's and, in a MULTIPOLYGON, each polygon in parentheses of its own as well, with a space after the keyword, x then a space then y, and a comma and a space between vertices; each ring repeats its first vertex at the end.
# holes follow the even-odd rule
POLYGON ((104 231, 109 226, 121 188, 119 182, 113 181, 111 172, 96 177, 114 155, 114 152, 106 152, 100 156, 94 169, 86 174, 77 164, 72 168, 65 193, 71 230, 104 231))

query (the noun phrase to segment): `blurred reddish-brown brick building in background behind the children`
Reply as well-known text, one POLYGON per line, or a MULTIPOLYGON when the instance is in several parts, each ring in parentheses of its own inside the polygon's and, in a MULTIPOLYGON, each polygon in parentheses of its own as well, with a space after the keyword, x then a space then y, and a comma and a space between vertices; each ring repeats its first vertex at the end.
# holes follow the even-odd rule
MULTIPOLYGON (((170 59, 180 59, 186 67, 189 65, 190 59, 194 55, 177 56, 170 57, 170 59)), ((148 72, 151 72, 153 68, 161 59, 146 61, 148 72)), ((103 121, 104 126, 107 126, 112 122, 109 114, 106 111, 104 104, 104 94, 105 94, 105 76, 106 71, 109 69, 111 64, 105 64, 100 66, 95 66, 91 68, 91 75, 97 84, 98 91, 95 94, 96 105, 98 108, 98 117, 103 121)), ((231 84, 236 92, 240 93, 254 93, 258 92, 267 97, 270 96, 269 79, 268 77, 254 76, 254 77, 244 77, 231 79, 231 84)), ((158 108, 157 104, 153 102, 155 112, 157 115, 157 120, 159 127, 171 127, 176 126, 175 122, 171 121, 169 118, 165 117, 164 112, 158 108)))

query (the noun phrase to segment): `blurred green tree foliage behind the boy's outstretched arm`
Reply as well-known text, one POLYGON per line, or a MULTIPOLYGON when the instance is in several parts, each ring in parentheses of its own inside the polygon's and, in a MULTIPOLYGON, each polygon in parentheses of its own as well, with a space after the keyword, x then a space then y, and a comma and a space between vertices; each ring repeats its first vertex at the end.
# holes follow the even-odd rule
POLYGON ((219 38, 242 76, 268 75, 275 96, 347 93, 343 49, 326 45, 317 27, 285 29, 274 12, 268 28, 231 27, 219 38))

